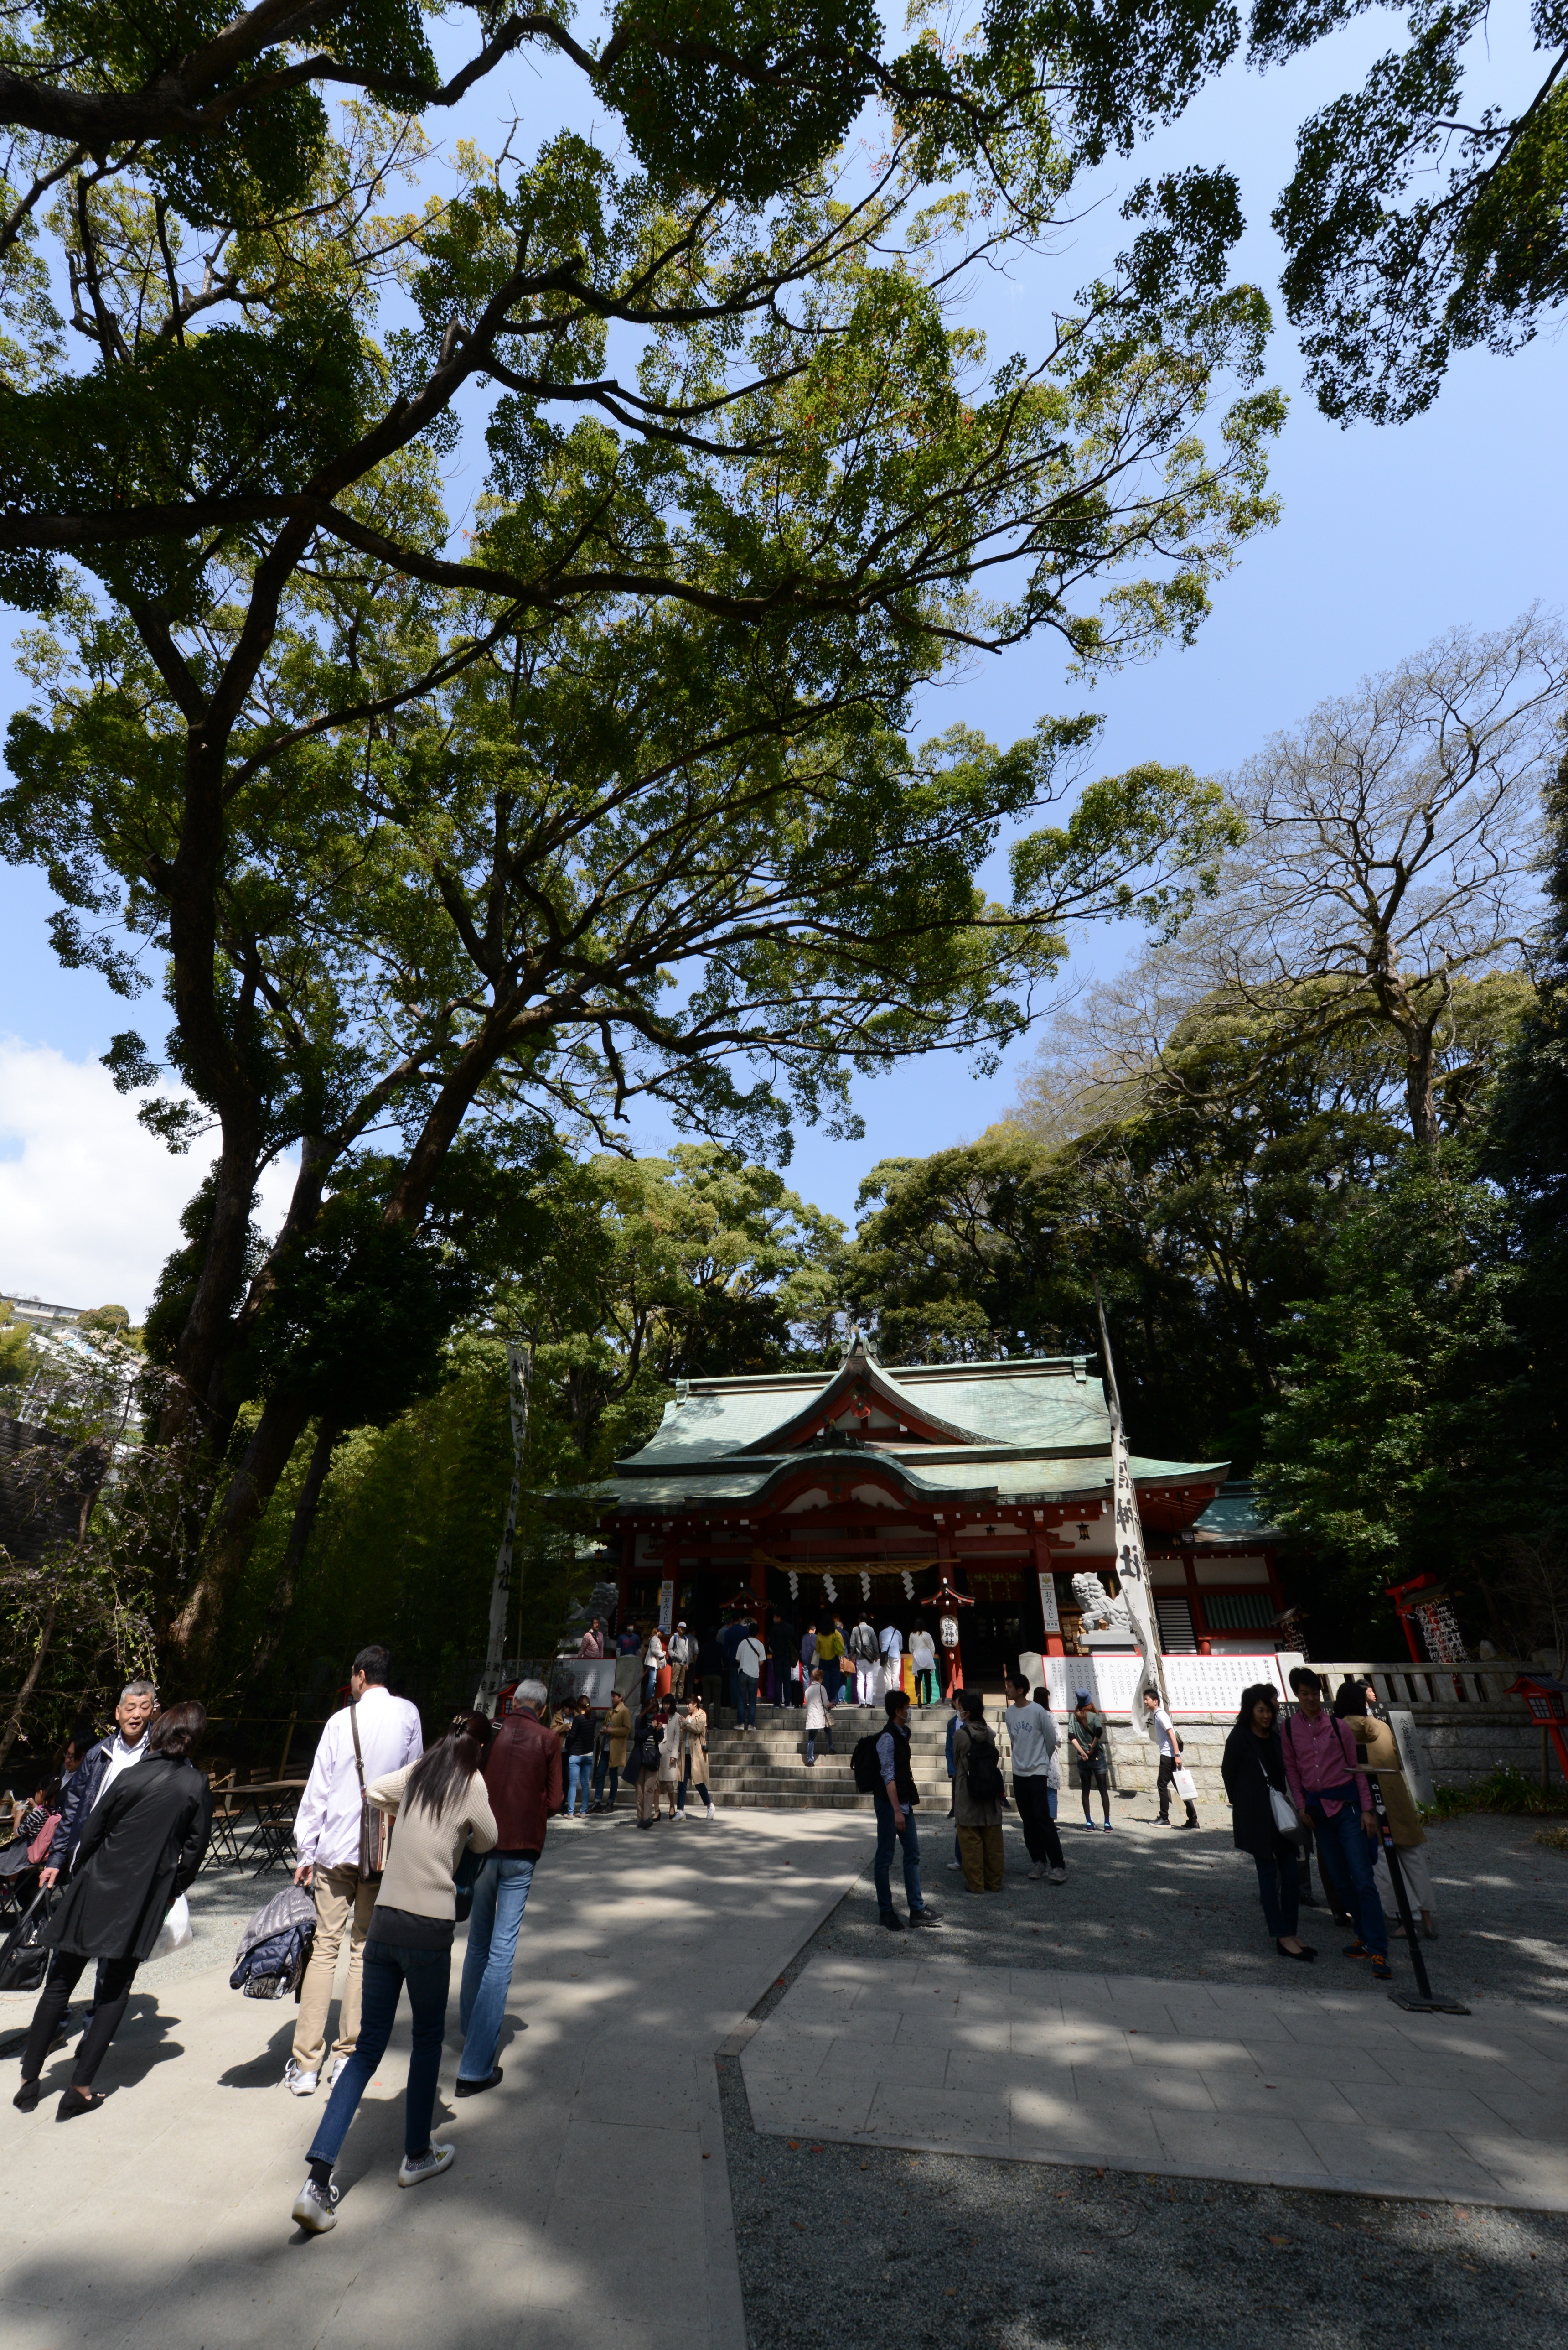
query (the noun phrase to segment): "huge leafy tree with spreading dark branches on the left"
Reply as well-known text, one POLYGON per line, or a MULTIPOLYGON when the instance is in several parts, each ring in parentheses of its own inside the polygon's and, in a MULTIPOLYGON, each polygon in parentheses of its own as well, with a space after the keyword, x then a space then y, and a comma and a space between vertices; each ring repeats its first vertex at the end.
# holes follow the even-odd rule
MULTIPOLYGON (((854 1069, 995 1050, 1073 916, 1181 914, 1214 787, 1138 768, 1030 832, 1091 721, 913 750, 911 707, 1030 632, 1188 634, 1270 519, 1279 402, 1223 179, 1134 190, 1117 268, 988 362, 967 273, 1113 134, 984 42, 479 12, 441 82, 413 12, 110 7, 92 66, 77 14, 12 19, 0 78, 0 590, 38 616, 0 846, 66 961, 162 964, 190 1102, 150 1116, 216 1149, 153 1332, 157 1434, 218 1476, 160 1591, 195 1680, 296 1443, 418 1384, 552 1126, 660 1095, 777 1140, 854 1069), (636 167, 514 127, 432 195, 427 120, 519 40, 636 167)), ((146 1039, 113 1067, 143 1086, 146 1039)))

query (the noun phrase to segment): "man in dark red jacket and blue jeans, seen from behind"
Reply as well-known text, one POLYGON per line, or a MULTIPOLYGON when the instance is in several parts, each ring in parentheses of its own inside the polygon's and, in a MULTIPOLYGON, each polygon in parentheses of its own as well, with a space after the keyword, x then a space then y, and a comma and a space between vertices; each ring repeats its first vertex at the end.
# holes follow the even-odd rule
POLYGON ((533 1871, 545 1849, 547 1821, 566 1810, 561 1739, 540 1720, 549 1704, 549 1690, 542 1680, 523 1680, 512 1704, 514 1711, 491 1739, 484 1765, 498 1835, 495 1852, 486 1852, 479 1864, 474 1908, 467 1922, 467 1958, 458 1995, 458 2023, 462 2026, 458 2096, 479 2096, 500 2080, 495 2047, 512 1988, 516 1934, 528 1906, 533 1871))

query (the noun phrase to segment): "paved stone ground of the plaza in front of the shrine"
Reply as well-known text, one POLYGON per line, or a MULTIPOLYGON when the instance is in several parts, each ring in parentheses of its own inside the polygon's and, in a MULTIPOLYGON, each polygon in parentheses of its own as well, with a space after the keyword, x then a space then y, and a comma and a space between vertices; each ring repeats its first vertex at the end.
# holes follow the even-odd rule
MULTIPOLYGON (((1070 1835, 1068 1885, 1045 1887, 1009 1826, 1007 1889, 972 1901, 927 1814, 948 1922, 920 1941, 876 1925, 869 1828, 758 1812, 554 1831, 505 2084, 453 2106, 453 2040, 437 2129, 458 2162, 401 2195, 401 2026, 345 2148, 340 2223, 315 2242, 289 2221, 319 2113, 277 2084, 293 2009, 228 1988, 237 1915, 277 1880, 204 1878, 202 1936, 141 1976, 106 2108, 61 2129, 52 2101, 0 2103, 7 2345, 770 2350, 845 2326, 894 2345, 939 2341, 948 2291, 998 2350, 1131 2345, 1167 2317, 1202 2343, 1207 2247, 1237 2228, 1237 2263, 1347 2228, 1378 2247, 1373 2282, 1378 2261, 1439 2258, 1446 2317, 1420 2343, 1472 2341, 1502 2305, 1568 2317, 1568 1859, 1528 1828, 1434 1840, 1430 1955, 1474 2005, 1444 2021, 1354 1983, 1322 1911, 1305 1932, 1324 1960, 1286 1974, 1221 1828, 1124 1810, 1113 1838, 1070 1835), (953 2211, 967 2232, 948 2242, 953 2211), (1056 2310, 1052 2284, 1019 2310, 1007 2277, 1045 2275, 1063 2230, 1082 2247, 1052 2275, 1087 2263, 1089 2298, 1056 2310), (1103 2315, 1110 2258, 1136 2275, 1124 2329, 1103 2315), (843 2287, 869 2280, 854 2317, 843 2287)), ((12 2059, 28 2012, 0 2000, 12 2059)), ((47 2080, 66 2070, 61 2052, 47 2080)), ((1373 2284, 1359 2298, 1376 2305, 1373 2284)))

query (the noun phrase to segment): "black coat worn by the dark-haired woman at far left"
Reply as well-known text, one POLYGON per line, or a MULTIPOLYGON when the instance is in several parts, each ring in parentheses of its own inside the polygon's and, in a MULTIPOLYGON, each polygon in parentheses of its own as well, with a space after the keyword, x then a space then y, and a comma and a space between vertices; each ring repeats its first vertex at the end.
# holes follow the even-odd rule
POLYGON ((87 1958, 146 1958, 164 1911, 195 1880, 209 1833, 211 1788, 195 1762, 148 1755, 120 1772, 82 1828, 42 1941, 87 1958))

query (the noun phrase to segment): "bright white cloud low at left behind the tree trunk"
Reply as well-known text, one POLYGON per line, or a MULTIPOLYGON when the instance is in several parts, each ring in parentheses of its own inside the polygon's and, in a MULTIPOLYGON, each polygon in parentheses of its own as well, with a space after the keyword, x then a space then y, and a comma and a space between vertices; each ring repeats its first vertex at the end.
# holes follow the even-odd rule
MULTIPOLYGON (((0 1036, 0 1297, 122 1304, 141 1321, 209 1161, 202 1140, 174 1159, 143 1133, 96 1060, 0 1036)), ((291 1184, 291 1166, 268 1168, 263 1231, 282 1224, 291 1184)))

